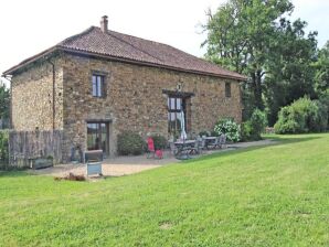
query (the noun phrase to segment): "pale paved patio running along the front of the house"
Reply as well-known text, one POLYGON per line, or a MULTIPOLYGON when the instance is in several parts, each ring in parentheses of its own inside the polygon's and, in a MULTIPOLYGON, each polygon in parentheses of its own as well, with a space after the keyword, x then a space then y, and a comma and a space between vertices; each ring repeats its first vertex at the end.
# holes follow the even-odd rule
MULTIPOLYGON (((256 146, 268 146, 274 144, 276 141, 273 140, 261 140, 252 142, 240 142, 227 144, 226 149, 220 150, 209 150, 204 151, 202 155, 206 155, 215 152, 230 151, 240 148, 248 148, 256 146)), ((177 160, 169 151, 166 151, 162 160, 158 159, 147 159, 146 155, 137 157, 116 157, 112 159, 106 159, 103 162, 102 171, 105 176, 121 176, 138 173, 141 171, 159 168, 169 163, 180 162, 177 160)), ((86 164, 59 164, 53 168, 40 169, 40 170, 29 170, 29 172, 39 175, 52 175, 52 176, 66 176, 68 173, 75 175, 84 175, 86 173, 86 164)))

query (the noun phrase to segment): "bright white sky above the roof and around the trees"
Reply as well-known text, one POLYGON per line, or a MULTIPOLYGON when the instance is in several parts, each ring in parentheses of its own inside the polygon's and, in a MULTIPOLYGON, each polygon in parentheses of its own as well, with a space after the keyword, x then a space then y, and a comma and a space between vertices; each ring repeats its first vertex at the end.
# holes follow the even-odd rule
MULTIPOLYGON (((126 34, 170 44, 202 56, 206 33, 205 11, 225 0, 10 0, 0 3, 0 75, 29 56, 79 33, 99 26, 108 15, 108 28, 126 34)), ((326 26, 329 0, 293 0, 294 19, 308 22, 307 31, 319 32, 319 46, 329 40, 326 26)))

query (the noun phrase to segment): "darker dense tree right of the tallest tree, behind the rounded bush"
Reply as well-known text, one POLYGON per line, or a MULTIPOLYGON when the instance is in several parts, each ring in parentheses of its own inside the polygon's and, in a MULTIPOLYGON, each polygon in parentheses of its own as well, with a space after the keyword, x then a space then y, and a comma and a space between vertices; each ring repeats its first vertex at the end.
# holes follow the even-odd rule
POLYGON ((268 122, 273 126, 283 106, 308 96, 316 98, 312 64, 316 61, 317 32, 305 36, 307 23, 280 19, 276 28, 276 40, 266 63, 264 96, 268 111, 268 122))

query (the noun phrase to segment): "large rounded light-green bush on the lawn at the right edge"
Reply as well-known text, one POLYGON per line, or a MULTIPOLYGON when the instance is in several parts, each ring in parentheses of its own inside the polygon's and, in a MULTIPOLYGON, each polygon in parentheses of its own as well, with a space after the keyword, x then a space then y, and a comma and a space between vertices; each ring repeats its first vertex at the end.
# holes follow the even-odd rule
POLYGON ((282 108, 274 128, 277 133, 303 133, 325 131, 327 126, 327 106, 304 97, 282 108))

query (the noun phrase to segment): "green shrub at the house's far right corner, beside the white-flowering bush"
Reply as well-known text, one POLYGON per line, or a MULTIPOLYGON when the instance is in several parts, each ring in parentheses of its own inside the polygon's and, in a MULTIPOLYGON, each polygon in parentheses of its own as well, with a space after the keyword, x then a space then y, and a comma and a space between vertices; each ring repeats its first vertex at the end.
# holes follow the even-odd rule
POLYGON ((243 141, 261 140, 267 125, 266 115, 259 109, 255 109, 250 120, 241 125, 241 139, 243 141))

